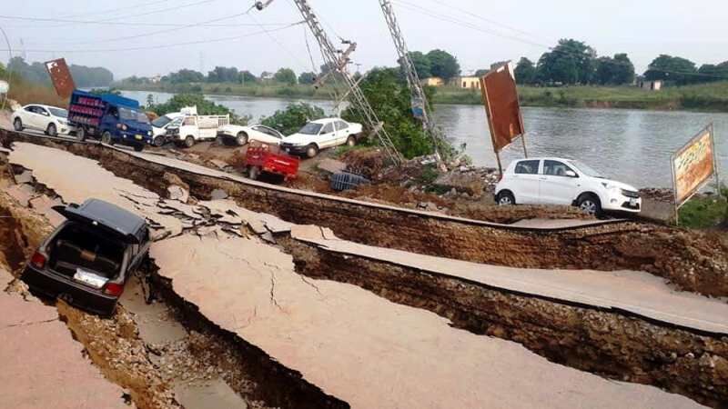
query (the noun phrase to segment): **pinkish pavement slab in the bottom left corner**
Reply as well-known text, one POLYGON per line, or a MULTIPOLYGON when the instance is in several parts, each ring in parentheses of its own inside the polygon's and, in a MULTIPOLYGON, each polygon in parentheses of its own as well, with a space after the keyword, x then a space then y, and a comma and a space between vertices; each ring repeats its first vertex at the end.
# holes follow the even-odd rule
POLYGON ((0 407, 130 407, 124 390, 84 358, 55 307, 0 292, 0 311, 0 407))

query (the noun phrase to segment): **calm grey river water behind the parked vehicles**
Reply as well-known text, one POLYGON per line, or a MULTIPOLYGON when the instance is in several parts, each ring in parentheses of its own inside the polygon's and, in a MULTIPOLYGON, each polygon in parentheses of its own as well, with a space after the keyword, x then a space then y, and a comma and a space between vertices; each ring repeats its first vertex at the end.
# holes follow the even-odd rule
MULTIPOLYGON (((147 95, 163 103, 166 93, 125 91, 124 95, 144 104, 147 95)), ((294 100, 208 95, 238 115, 252 115, 258 121, 294 100)), ((298 100, 296 100, 298 101, 298 100)), ((329 101, 307 101, 328 113, 329 101)), ((456 145, 467 144, 466 152, 475 165, 496 166, 490 133, 482 106, 436 105, 435 120, 456 145)), ((670 156, 703 126, 713 122, 716 148, 723 180, 728 175, 728 114, 638 111, 622 109, 524 108, 529 155, 580 159, 612 178, 638 187, 672 185, 670 156)), ((522 157, 521 143, 509 146, 503 164, 522 157)))

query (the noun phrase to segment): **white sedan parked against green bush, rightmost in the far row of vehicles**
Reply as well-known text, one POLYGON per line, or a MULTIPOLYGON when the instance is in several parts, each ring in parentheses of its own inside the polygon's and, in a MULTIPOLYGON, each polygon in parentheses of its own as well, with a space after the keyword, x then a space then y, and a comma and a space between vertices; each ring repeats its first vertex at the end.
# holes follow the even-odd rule
POLYGON ((349 124, 340 118, 326 118, 311 121, 298 133, 286 136, 280 147, 292 155, 319 155, 321 149, 339 145, 357 145, 362 126, 349 124))

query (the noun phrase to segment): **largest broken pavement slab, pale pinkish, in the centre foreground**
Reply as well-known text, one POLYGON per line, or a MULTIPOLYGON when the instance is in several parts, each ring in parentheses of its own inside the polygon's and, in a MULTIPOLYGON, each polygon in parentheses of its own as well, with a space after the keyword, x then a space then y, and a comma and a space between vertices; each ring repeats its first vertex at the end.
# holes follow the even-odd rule
POLYGON ((354 285, 308 279, 255 239, 185 234, 154 244, 151 256, 207 319, 352 407, 698 407, 551 364, 354 285))

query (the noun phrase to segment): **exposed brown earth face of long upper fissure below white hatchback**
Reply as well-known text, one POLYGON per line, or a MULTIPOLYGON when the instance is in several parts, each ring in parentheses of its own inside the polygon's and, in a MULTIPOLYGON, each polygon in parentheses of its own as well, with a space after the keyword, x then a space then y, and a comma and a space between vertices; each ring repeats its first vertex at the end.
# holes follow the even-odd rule
POLYGON ((222 190, 250 210, 329 227, 339 237, 361 244, 513 267, 640 270, 684 290, 728 295, 728 248, 705 234, 622 221, 547 228, 492 224, 260 184, 106 145, 0 131, 5 147, 22 141, 93 158, 114 175, 160 195, 167 188, 165 175, 171 173, 198 198, 209 199, 213 191, 222 190))

